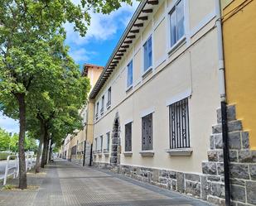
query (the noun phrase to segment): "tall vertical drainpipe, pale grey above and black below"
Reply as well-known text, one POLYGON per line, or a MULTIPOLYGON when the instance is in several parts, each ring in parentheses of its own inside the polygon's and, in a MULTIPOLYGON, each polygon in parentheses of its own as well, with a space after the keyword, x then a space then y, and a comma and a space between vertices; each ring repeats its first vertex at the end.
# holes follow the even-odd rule
POLYGON ((218 36, 218 55, 219 55, 219 87, 220 87, 220 108, 221 108, 221 124, 222 124, 222 141, 223 141, 223 159, 224 159, 224 176, 225 176, 225 205, 230 206, 230 179, 229 179, 229 140, 228 140, 228 118, 227 103, 225 93, 225 65, 224 65, 224 49, 221 25, 221 7, 220 0, 215 0, 216 6, 216 27, 218 36))

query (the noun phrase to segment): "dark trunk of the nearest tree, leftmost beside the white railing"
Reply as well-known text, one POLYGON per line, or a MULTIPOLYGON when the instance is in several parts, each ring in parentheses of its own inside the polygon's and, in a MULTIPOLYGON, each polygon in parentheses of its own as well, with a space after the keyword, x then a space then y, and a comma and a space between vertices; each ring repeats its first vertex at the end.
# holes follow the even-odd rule
POLYGON ((18 154, 19 154, 19 188, 27 189, 27 172, 26 160, 24 151, 24 141, 26 132, 26 103, 25 93, 17 93, 17 101, 19 104, 19 118, 20 118, 20 133, 18 141, 18 154))

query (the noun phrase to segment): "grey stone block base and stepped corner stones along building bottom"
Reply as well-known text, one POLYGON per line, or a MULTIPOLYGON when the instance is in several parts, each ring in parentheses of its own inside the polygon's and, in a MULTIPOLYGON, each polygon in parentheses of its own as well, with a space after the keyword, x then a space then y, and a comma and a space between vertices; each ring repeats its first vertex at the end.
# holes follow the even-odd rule
MULTIPOLYGON (((235 106, 229 105, 227 112, 231 202, 234 206, 256 205, 256 151, 249 149, 249 132, 243 131, 242 122, 236 119, 235 106)), ((94 162, 94 165, 161 188, 204 199, 212 204, 225 205, 220 109, 217 110, 217 120, 218 124, 212 127, 210 135, 208 160, 202 162, 200 174, 122 165, 122 163, 116 165, 94 162)))

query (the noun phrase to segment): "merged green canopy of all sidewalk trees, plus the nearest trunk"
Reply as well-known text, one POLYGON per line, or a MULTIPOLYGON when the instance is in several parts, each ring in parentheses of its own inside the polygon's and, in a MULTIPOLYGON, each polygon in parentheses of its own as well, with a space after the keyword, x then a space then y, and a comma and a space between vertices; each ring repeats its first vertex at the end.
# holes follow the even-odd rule
POLYGON ((20 122, 19 188, 27 188, 27 119, 43 116, 49 120, 44 127, 59 138, 79 125, 78 109, 89 91, 64 45, 63 25, 74 23, 85 36, 90 12, 109 13, 121 2, 131 0, 0 0, 0 110, 20 122))

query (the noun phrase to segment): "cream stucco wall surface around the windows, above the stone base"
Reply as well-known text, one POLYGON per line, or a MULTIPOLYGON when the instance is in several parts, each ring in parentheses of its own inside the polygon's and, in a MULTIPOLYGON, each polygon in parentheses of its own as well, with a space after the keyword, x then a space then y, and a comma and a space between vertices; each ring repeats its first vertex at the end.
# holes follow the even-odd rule
MULTIPOLYGON (((104 87, 95 98, 100 102, 102 95, 112 89, 111 108, 105 109, 104 114, 94 121, 94 138, 104 136, 112 131, 115 114, 118 113, 121 124, 121 164, 140 165, 152 168, 201 172, 201 162, 207 159, 211 126, 216 123, 216 108, 219 107, 218 90, 218 61, 217 36, 214 26, 215 20, 209 13, 215 10, 214 1, 186 1, 187 37, 176 50, 169 53, 168 47, 168 12, 171 1, 162 1, 159 12, 154 10, 145 31, 138 37, 133 50, 133 89, 126 91, 126 65, 130 57, 126 53, 118 68, 110 76, 104 87), (187 2, 190 2, 189 4, 187 2), (203 11, 199 11, 200 4, 203 11), (189 21, 190 20, 190 21, 189 21), (205 25, 203 23, 205 22, 205 25), (153 69, 142 77, 142 45, 152 34, 153 69), (141 43, 139 44, 138 41, 141 43), (138 48, 140 45, 140 48, 138 48), (191 92, 189 98, 191 156, 169 156, 169 117, 167 102, 182 93, 191 92), (153 124, 153 157, 142 157, 142 114, 152 114, 153 124), (124 125, 133 121, 133 156, 123 156, 124 125)), ((131 54, 131 53, 129 53, 131 54)), ((107 96, 105 96, 107 97, 107 96)), ((99 107, 100 108, 100 107, 99 107)), ((111 141, 110 141, 111 145, 111 141)), ((95 148, 94 148, 95 150, 95 148)), ((94 156, 95 161, 109 162, 109 156, 94 156)))

